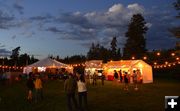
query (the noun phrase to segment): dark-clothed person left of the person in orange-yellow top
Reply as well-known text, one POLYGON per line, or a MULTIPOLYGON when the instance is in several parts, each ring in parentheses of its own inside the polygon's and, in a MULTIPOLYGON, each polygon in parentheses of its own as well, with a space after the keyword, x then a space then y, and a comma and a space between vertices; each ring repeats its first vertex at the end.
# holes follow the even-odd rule
POLYGON ((28 100, 29 102, 32 102, 32 100, 33 100, 33 94, 32 94, 32 92, 33 92, 33 89, 34 89, 34 83, 33 83, 32 73, 29 74, 29 78, 28 78, 28 80, 27 80, 26 85, 27 85, 27 88, 28 88, 27 100, 28 100))

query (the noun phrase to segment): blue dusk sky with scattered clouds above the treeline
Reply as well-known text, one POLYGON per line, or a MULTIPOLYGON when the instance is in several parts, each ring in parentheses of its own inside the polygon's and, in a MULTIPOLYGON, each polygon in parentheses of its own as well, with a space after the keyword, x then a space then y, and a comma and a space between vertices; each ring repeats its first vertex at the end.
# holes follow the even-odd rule
POLYGON ((176 39, 168 29, 179 26, 175 0, 0 0, 0 56, 20 53, 44 58, 86 55, 92 42, 123 48, 133 14, 141 13, 149 30, 147 49, 168 49, 176 39))

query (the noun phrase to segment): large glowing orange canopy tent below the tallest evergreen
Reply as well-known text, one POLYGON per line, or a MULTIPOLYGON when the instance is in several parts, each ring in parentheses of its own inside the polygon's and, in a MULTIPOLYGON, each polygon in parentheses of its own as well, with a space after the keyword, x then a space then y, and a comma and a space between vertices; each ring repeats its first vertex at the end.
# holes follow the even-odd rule
POLYGON ((121 60, 121 61, 110 61, 104 65, 106 76, 114 75, 114 70, 122 72, 128 72, 132 74, 133 70, 140 70, 143 83, 152 83, 153 74, 152 67, 142 60, 121 60))

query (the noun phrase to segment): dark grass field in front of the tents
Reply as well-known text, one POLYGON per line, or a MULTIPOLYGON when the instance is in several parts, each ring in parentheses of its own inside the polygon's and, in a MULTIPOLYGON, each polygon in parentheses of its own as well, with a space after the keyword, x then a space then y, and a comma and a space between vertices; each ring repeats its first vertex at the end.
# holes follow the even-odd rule
MULTIPOLYGON (((152 84, 141 84, 138 91, 130 85, 106 81, 102 86, 88 85, 89 111, 164 111, 165 95, 180 95, 180 81, 155 78, 152 84)), ((0 111, 67 111, 63 81, 44 83, 44 100, 37 103, 26 101, 25 81, 12 85, 0 85, 0 111)))

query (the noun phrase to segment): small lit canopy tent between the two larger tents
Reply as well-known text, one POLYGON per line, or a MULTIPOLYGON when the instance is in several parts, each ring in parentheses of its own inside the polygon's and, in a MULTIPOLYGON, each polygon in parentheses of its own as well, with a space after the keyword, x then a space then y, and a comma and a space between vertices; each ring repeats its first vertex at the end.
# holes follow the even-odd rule
POLYGON ((98 75, 102 75, 103 64, 102 60, 90 60, 85 62, 85 74, 93 75, 95 71, 98 71, 98 75))

